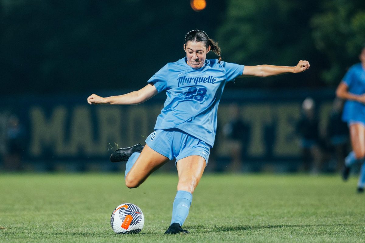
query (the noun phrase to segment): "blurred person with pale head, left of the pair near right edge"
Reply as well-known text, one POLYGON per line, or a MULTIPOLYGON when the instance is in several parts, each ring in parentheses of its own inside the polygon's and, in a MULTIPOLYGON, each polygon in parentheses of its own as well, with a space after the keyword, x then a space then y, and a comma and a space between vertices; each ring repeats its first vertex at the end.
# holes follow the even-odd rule
POLYGON ((303 169, 317 174, 322 169, 322 152, 319 147, 319 121, 314 100, 311 97, 306 98, 301 108, 301 118, 296 125, 296 132, 300 137, 303 169))

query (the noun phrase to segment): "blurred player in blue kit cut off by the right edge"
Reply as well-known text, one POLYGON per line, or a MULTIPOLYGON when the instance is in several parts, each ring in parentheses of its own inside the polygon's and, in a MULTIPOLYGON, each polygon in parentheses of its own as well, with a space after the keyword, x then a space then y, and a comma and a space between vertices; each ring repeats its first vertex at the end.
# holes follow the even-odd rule
POLYGON ((350 129, 353 151, 345 158, 343 180, 347 180, 350 168, 355 163, 362 163, 357 191, 364 192, 365 185, 365 46, 359 55, 361 63, 350 67, 338 85, 336 95, 347 99, 343 107, 342 120, 350 129))

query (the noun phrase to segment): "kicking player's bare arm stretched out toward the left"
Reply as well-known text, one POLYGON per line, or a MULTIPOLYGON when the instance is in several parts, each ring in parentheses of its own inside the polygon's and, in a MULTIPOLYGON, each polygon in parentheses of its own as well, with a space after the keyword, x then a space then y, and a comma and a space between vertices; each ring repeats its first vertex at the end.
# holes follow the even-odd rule
POLYGON ((133 91, 128 94, 116 95, 110 97, 100 97, 99 95, 92 94, 88 97, 88 103, 91 105, 97 104, 110 104, 110 105, 137 105, 147 101, 157 94, 157 90, 154 85, 148 84, 140 90, 133 91))

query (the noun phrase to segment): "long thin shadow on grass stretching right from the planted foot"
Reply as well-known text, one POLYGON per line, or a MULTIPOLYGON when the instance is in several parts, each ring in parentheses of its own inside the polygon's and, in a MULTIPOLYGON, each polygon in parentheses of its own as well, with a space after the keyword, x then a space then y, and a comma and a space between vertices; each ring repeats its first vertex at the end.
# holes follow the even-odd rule
POLYGON ((211 233, 211 232, 227 232, 227 231, 242 231, 242 230, 260 230, 260 229, 272 229, 272 228, 296 228, 296 227, 321 227, 321 226, 355 226, 355 224, 278 224, 278 225, 233 225, 233 226, 187 226, 186 230, 196 230, 201 233, 211 233))

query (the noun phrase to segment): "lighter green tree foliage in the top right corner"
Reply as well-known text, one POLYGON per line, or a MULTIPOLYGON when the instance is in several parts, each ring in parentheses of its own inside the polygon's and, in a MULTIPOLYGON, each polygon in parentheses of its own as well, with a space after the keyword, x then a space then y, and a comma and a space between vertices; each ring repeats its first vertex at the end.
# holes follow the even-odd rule
POLYGON ((335 85, 350 65, 359 62, 365 44, 365 1, 324 1, 320 8, 322 11, 311 19, 312 36, 330 62, 322 78, 335 85))

